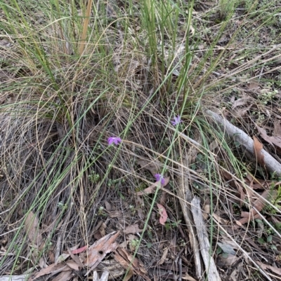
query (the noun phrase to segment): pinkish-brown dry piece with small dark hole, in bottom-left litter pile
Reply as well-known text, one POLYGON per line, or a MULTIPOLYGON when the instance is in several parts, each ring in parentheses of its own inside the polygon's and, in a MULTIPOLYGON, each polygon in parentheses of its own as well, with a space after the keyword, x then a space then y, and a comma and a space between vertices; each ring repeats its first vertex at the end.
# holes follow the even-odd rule
POLYGON ((86 256, 86 259, 84 259, 84 266, 91 268, 91 270, 96 268, 98 263, 100 263, 100 261, 102 261, 108 253, 115 251, 115 249, 118 247, 117 243, 115 242, 118 236, 119 231, 117 233, 112 232, 93 243, 93 245, 91 245, 91 247, 88 249, 88 256, 86 256))

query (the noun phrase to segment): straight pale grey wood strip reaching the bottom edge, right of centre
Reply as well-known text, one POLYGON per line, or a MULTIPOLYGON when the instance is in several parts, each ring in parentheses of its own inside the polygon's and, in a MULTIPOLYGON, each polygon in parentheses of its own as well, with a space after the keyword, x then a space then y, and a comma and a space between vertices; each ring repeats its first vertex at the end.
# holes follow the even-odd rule
POLYGON ((221 277, 218 275, 216 264, 213 257, 209 254, 210 242, 205 228, 202 210, 200 207, 200 198, 195 196, 191 201, 191 212, 193 215, 193 221, 195 222, 195 228, 197 231, 197 238, 200 245, 200 252, 207 272, 208 281, 221 281, 221 277))

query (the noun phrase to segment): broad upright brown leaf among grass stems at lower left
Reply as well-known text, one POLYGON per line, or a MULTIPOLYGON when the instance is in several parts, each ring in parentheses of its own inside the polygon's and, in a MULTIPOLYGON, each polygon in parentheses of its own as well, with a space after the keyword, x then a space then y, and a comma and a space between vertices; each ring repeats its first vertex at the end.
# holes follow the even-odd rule
POLYGON ((25 232, 30 242, 32 242, 35 247, 39 248, 43 238, 39 229, 37 216, 32 211, 27 214, 25 219, 25 232))

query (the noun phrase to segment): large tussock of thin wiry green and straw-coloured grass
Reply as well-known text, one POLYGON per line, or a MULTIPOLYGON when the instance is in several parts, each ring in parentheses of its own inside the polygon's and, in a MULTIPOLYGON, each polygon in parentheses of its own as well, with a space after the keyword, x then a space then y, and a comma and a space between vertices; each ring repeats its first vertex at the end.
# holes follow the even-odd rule
MULTIPOLYGON (((221 169, 228 168, 242 182, 240 170, 245 167, 223 132, 210 126, 204 109, 241 85, 238 81, 226 86, 228 78, 242 76, 249 67, 257 69, 266 61, 254 64, 253 59, 214 81, 213 72, 235 52, 230 48, 232 41, 220 52, 216 48, 233 20, 231 14, 218 25, 213 43, 202 53, 196 50, 200 39, 196 41, 190 34, 192 4, 143 1, 134 10, 131 2, 123 7, 128 8, 124 13, 117 11, 121 18, 108 19, 100 7, 91 9, 91 1, 87 9, 66 1, 31 3, 34 13, 23 1, 1 4, 6 15, 1 22, 2 38, 13 45, 1 49, 2 69, 9 78, 1 84, 5 102, 0 116, 4 173, 0 185, 5 208, 11 205, 1 214, 5 215, 4 233, 8 233, 8 225, 15 226, 7 249, 13 256, 7 254, 0 261, 1 273, 17 270, 21 256, 29 252, 23 226, 30 211, 37 214, 41 226, 55 221, 53 229, 46 231, 42 252, 58 239, 63 241, 62 249, 89 244, 104 200, 113 198, 129 212, 129 205, 136 205, 136 190, 154 180, 140 169, 140 159, 157 161, 159 172, 171 175, 174 190, 170 194, 174 194, 185 146, 191 146, 178 129, 171 128, 170 121, 178 114, 184 118, 181 130, 185 135, 195 137, 198 132, 201 136, 197 169, 188 172, 192 189, 208 198, 211 214, 223 208, 225 201, 240 199, 226 187, 221 169), (133 18, 133 11, 139 21, 133 18), (178 31, 181 19, 184 32, 178 31), (210 102, 214 95, 216 100, 210 102), (107 137, 112 136, 122 137, 122 145, 108 146, 107 137), (217 155, 209 151, 213 140, 218 142, 217 155), (91 180, 93 173, 99 175, 98 181, 91 180)), ((243 22, 246 19, 247 15, 243 22)), ((258 27, 263 25, 266 22, 258 27)), ((242 28, 233 38, 240 36, 242 28)), ((155 193, 146 199, 145 226, 150 225, 157 198, 155 193)), ((225 210, 229 211, 228 206, 225 210)), ((173 219, 181 217, 176 214, 173 219)), ((215 224, 211 218, 211 242, 220 235, 215 224)), ((138 246, 142 242, 140 239, 138 246)), ((28 256, 32 262, 27 267, 36 265, 42 252, 28 256)))

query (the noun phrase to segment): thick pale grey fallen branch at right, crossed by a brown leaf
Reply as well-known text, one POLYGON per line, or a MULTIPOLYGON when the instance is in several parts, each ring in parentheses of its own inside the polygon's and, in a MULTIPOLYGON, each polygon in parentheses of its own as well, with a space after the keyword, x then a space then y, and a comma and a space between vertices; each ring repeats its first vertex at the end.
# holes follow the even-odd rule
MULTIPOLYGON (((218 114, 215 114, 213 111, 207 110, 206 113, 208 114, 208 116, 211 116, 211 118, 213 118, 214 121, 218 123, 218 125, 222 126, 226 130, 228 135, 230 137, 233 137, 233 139, 235 139, 235 142, 239 142, 253 156, 255 155, 254 141, 245 132, 235 127, 233 124, 227 121, 226 118, 223 118, 218 114)), ((266 169, 269 172, 276 172, 276 174, 280 176, 281 164, 264 149, 261 149, 261 153, 263 153, 264 156, 264 163, 266 165, 266 169)))

